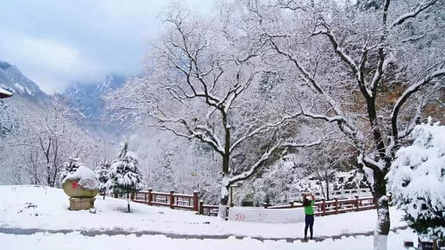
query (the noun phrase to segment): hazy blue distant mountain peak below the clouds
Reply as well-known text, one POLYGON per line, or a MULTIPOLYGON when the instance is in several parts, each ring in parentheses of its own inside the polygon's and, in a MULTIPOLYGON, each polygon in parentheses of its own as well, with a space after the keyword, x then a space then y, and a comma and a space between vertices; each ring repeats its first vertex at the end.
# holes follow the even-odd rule
POLYGON ((124 82, 125 78, 118 75, 108 75, 102 82, 75 81, 63 92, 63 96, 70 101, 73 108, 96 122, 104 110, 104 102, 101 97, 120 88, 124 82))

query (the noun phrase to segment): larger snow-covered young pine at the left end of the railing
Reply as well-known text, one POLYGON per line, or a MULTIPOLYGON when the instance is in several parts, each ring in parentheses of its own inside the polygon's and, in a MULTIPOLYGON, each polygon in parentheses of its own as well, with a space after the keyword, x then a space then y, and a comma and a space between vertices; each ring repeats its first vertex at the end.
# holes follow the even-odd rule
POLYGON ((106 187, 113 194, 127 194, 128 212, 130 212, 129 194, 142 190, 143 176, 138 169, 138 156, 128 150, 128 142, 120 145, 118 159, 111 165, 106 187))

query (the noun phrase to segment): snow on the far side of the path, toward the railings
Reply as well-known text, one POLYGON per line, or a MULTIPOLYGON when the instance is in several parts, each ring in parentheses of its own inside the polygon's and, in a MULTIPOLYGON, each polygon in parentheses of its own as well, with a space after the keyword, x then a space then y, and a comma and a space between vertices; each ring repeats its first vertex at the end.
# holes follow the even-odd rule
MULTIPOLYGON (((96 214, 91 214, 88 210, 70 211, 67 209, 68 197, 63 190, 33 185, 0 186, 0 193, 0 228, 122 230, 134 233, 152 231, 181 235, 233 235, 281 239, 301 238, 305 226, 304 223, 226 222, 217 217, 195 215, 191 211, 171 210, 140 203, 131 204, 132 213, 124 213, 127 210, 127 201, 111 197, 106 197, 105 200, 97 197, 96 214), (37 207, 25 208, 25 203, 32 203, 37 207)), ((401 221, 403 211, 391 207, 390 215, 392 228, 407 225, 401 221)), ((314 232, 316 237, 372 232, 376 220, 375 210, 316 217, 314 232)))

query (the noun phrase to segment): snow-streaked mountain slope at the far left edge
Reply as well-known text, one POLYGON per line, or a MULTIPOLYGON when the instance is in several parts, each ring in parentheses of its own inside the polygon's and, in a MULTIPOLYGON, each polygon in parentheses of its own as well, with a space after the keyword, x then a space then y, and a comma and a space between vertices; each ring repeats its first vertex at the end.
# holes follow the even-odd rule
POLYGON ((24 76, 17 67, 2 60, 0 60, 0 88, 13 92, 15 96, 25 97, 39 103, 49 99, 49 95, 24 76))

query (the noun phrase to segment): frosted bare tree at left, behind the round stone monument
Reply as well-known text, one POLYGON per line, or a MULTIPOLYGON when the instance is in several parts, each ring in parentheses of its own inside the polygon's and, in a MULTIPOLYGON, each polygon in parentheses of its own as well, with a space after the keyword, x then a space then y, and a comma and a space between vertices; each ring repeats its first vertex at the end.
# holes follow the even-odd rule
POLYGON ((85 156, 94 140, 70 119, 69 110, 56 98, 46 110, 35 108, 22 114, 17 133, 6 137, 13 172, 29 176, 34 184, 57 186, 67 156, 85 156))

